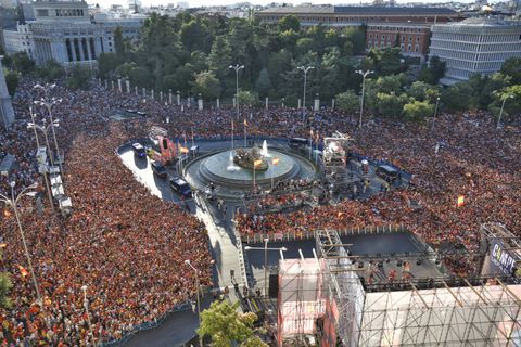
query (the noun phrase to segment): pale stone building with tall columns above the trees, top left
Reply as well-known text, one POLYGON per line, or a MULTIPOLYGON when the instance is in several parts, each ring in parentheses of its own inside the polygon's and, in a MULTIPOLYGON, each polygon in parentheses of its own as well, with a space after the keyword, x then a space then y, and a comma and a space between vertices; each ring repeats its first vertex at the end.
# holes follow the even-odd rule
POLYGON ((96 63, 101 53, 115 52, 118 26, 124 37, 136 38, 142 22, 141 17, 97 18, 84 0, 37 0, 31 5, 35 20, 18 24, 16 31, 4 30, 4 40, 8 53, 27 51, 37 65, 50 60, 63 65, 96 63))

